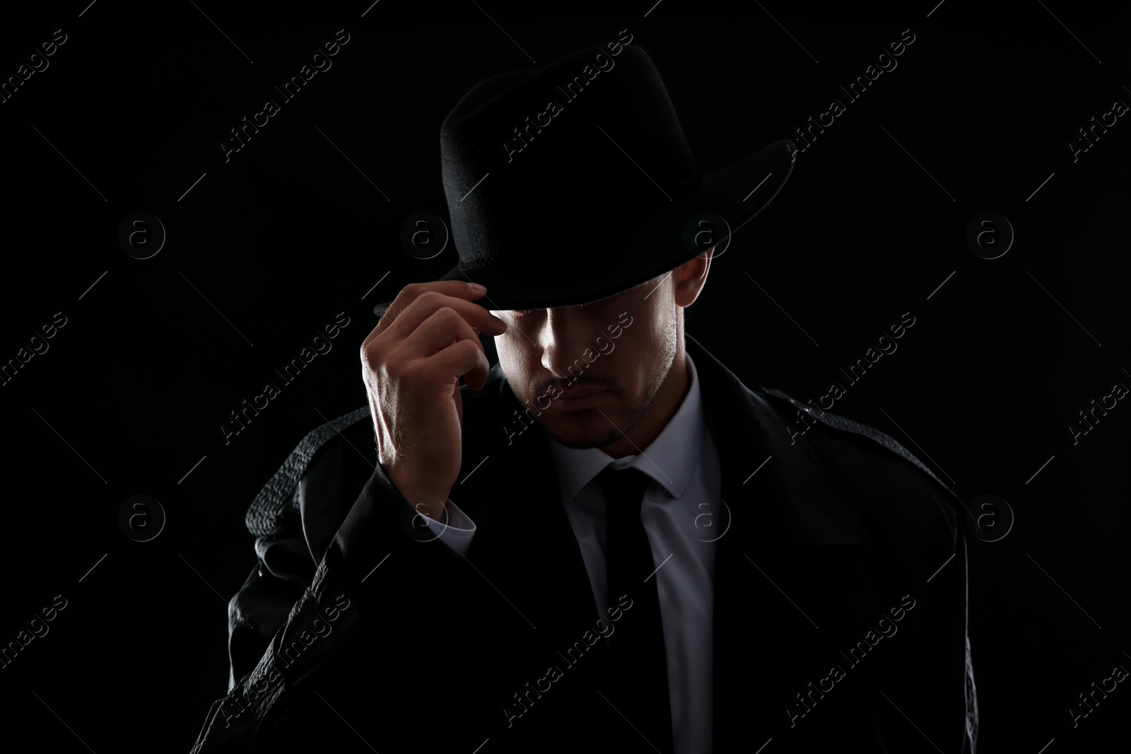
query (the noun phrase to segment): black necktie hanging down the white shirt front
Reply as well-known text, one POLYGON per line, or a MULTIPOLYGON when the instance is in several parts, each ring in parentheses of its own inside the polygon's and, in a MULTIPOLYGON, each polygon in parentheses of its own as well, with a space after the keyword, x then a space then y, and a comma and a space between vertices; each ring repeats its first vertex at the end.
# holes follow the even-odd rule
POLYGON ((610 638, 606 696, 620 712, 613 716, 613 728, 621 731, 625 744, 620 751, 647 751, 640 740, 644 736, 667 754, 672 751, 672 707, 664 627, 651 546, 640 521, 648 477, 633 468, 606 467, 597 475, 597 483, 605 495, 608 606, 622 610, 610 638), (624 609, 625 605, 630 607, 624 609))

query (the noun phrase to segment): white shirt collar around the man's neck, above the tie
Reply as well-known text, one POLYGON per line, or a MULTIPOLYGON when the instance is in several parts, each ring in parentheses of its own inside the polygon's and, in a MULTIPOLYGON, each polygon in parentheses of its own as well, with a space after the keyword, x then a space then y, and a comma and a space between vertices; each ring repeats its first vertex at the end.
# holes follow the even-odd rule
POLYGON ((546 440, 550 454, 558 468, 562 500, 571 502, 606 466, 631 466, 656 480, 672 499, 679 499, 691 479, 691 471, 699 460, 706 417, 699 392, 699 376, 694 362, 684 353, 690 387, 683 402, 655 440, 637 456, 614 460, 599 448, 567 448, 550 435, 546 440))

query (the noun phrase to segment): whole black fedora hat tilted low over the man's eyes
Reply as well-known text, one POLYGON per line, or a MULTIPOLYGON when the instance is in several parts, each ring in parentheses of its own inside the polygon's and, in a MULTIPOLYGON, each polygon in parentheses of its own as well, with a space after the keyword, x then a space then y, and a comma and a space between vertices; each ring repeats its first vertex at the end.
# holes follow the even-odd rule
POLYGON ((651 59, 620 43, 481 81, 440 149, 459 254, 441 279, 485 285, 477 303, 495 310, 597 301, 722 248, 795 150, 783 139, 701 175, 651 59))

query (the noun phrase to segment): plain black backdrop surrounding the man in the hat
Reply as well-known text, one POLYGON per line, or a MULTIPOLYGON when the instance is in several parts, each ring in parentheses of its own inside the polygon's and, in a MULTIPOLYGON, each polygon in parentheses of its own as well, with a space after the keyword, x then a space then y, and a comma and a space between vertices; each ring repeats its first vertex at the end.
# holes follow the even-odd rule
POLYGON ((1010 504, 1009 535, 972 543, 979 751, 1125 751, 1128 683, 1074 729, 1065 711, 1131 668, 1131 407, 1074 445, 1067 428, 1131 385, 1129 116, 1078 162, 1067 146, 1113 101, 1131 104, 1125 9, 86 1, 0 12, 3 77, 68 35, 0 104, 0 359, 67 317, 0 387, 0 641, 68 600, 0 670, 6 743, 191 746, 226 692, 225 601, 256 560, 248 503, 309 430, 365 404, 372 306, 457 260, 450 244, 412 257, 399 231, 415 211, 447 218, 439 128, 475 83, 628 28, 709 171, 796 138, 909 28, 898 68, 846 102, 713 265, 688 331, 748 383, 815 400, 909 311, 898 352, 834 411, 895 436, 964 499, 1010 504), (351 38, 333 68, 225 163, 228 129, 279 99, 271 85, 339 28, 351 38), (139 210, 167 232, 147 260, 116 240, 139 210), (995 260, 965 240, 987 210, 1016 232, 995 260), (333 350, 225 444, 228 411, 278 383, 273 367, 338 312, 349 324, 333 350), (119 529, 133 494, 167 514, 152 541, 119 529))

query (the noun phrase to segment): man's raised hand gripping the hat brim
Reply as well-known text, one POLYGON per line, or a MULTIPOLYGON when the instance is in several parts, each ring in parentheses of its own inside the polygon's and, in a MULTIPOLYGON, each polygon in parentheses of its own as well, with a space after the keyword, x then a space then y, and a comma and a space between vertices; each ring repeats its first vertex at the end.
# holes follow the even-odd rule
POLYGON ((443 520, 461 460, 459 378, 481 390, 491 370, 478 332, 507 324, 460 280, 406 285, 361 345, 378 460, 417 511, 443 520))

